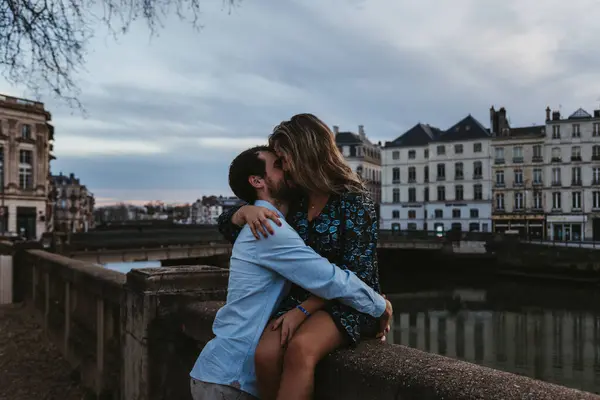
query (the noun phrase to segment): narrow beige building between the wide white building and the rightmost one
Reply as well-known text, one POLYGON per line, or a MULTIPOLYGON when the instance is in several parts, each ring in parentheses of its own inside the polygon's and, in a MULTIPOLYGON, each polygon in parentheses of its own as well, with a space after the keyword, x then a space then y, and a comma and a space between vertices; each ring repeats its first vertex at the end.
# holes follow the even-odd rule
POLYGON ((490 109, 494 232, 544 237, 545 125, 513 128, 504 107, 490 109))

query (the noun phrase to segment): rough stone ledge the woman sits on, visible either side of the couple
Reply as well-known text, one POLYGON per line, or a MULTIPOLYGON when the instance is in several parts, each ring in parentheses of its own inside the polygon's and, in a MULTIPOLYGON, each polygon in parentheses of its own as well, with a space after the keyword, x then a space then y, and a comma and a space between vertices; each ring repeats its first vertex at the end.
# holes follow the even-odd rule
MULTIPOLYGON (((189 304, 180 311, 184 332, 201 347, 213 337, 223 302, 189 304)), ((369 340, 319 364, 316 399, 344 400, 587 400, 600 396, 406 346, 369 340)))

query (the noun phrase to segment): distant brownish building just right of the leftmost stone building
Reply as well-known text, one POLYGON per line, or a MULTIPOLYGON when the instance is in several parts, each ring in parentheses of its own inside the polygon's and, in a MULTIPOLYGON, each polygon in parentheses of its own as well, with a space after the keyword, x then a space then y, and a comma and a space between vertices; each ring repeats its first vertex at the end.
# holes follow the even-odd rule
POLYGON ((93 229, 94 195, 74 174, 52 176, 55 232, 87 232, 93 229))

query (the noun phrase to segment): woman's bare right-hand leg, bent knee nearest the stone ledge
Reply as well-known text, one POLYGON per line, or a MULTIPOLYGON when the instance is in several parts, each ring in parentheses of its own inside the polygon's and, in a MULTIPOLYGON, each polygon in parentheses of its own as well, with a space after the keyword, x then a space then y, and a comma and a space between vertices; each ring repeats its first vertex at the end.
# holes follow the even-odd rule
POLYGON ((318 362, 348 340, 329 314, 314 313, 300 325, 287 346, 277 399, 312 399, 318 362))

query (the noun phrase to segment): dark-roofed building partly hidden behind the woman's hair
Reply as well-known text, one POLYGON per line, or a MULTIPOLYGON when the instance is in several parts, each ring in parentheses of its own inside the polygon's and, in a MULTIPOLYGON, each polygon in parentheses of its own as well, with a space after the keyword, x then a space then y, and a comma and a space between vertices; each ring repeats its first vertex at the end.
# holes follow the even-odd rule
POLYGON ((381 143, 373 144, 367 138, 363 125, 358 126, 358 134, 340 132, 334 126, 335 142, 346 162, 364 181, 371 198, 376 204, 381 202, 381 143))

